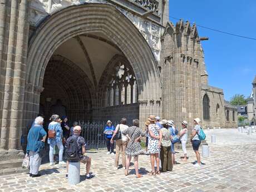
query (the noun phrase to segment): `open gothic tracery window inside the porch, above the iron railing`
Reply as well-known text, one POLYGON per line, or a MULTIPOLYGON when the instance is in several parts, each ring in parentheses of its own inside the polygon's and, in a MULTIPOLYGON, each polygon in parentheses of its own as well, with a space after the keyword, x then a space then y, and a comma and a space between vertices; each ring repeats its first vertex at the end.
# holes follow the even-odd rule
POLYGON ((117 62, 115 73, 107 87, 107 106, 134 104, 137 102, 137 83, 131 66, 117 62))

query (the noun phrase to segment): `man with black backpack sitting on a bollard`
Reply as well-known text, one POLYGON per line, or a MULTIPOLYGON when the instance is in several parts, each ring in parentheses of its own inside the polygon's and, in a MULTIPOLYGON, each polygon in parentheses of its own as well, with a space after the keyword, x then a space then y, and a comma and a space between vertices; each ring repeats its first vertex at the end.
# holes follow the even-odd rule
POLYGON ((72 161, 71 155, 72 154, 72 147, 73 141, 76 141, 76 146, 78 151, 78 156, 76 160, 73 161, 80 161, 83 164, 86 164, 86 179, 91 179, 92 175, 90 175, 90 168, 91 168, 91 157, 85 155, 85 139, 80 136, 81 134, 81 127, 75 126, 73 129, 73 135, 68 137, 66 141, 66 157, 67 157, 67 174, 66 178, 68 178, 68 164, 69 161, 72 161))

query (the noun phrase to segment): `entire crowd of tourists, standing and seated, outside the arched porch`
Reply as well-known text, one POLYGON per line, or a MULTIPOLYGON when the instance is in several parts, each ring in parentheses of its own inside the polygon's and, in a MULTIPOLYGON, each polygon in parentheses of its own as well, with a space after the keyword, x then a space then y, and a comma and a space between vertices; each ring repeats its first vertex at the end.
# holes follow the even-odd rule
MULTIPOLYGON (((86 156, 85 139, 80 136, 81 127, 77 122, 73 122, 73 126, 67 124, 67 117, 58 115, 51 116, 51 122, 48 125, 48 133, 43 129, 43 116, 38 115, 31 126, 27 136, 27 154, 29 155, 29 176, 37 177, 43 152, 45 150, 45 141, 48 136, 49 160, 50 166, 55 165, 54 155, 58 154, 58 164, 66 164, 63 161, 63 154, 67 159, 67 174, 68 165, 71 161, 80 161, 85 164, 86 178, 92 178, 90 174, 91 157, 86 156), (57 151, 57 152, 56 152, 57 151), (65 153, 63 152, 65 151, 65 153)), ((194 119, 194 129, 191 135, 191 143, 196 154, 195 166, 200 166, 199 146, 201 138, 199 138, 201 126, 200 119, 194 119)), ((150 155, 151 171, 149 175, 159 175, 161 172, 173 170, 175 161, 175 144, 181 143, 184 151, 183 161, 188 159, 186 152, 186 142, 188 140, 188 122, 182 121, 182 129, 179 131, 174 126, 172 120, 161 120, 160 117, 150 115, 145 121, 145 129, 142 130, 139 126, 139 120, 134 119, 132 126, 126 125, 127 119, 122 118, 120 124, 116 127, 112 122, 107 121, 107 126, 104 128, 104 135, 107 145, 107 154, 115 155, 115 168, 119 169, 120 154, 122 156, 122 168, 125 170, 125 175, 129 175, 129 166, 131 158, 134 157, 136 178, 141 178, 139 173, 138 159, 139 155, 150 155), (141 147, 142 137, 146 137, 146 151, 141 147), (114 141, 116 146, 116 154, 114 154, 114 141), (160 170, 161 161, 161 170, 160 170), (155 169, 156 164, 156 169, 155 169)))

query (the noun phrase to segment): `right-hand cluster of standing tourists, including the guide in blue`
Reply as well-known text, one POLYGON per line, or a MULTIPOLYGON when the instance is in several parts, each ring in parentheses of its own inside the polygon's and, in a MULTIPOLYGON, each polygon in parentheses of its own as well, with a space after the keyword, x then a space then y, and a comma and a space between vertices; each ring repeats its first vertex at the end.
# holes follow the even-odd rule
MULTIPOLYGON (((194 119, 194 129, 190 141, 193 146, 193 150, 196 154, 195 166, 200 166, 200 153, 199 146, 201 140, 199 139, 199 133, 201 126, 199 125, 200 119, 194 119)), ((159 175, 161 172, 173 170, 173 165, 177 164, 175 161, 175 149, 176 143, 180 142, 184 157, 183 161, 187 161, 186 142, 188 141, 188 122, 182 121, 182 129, 179 131, 174 126, 172 120, 161 120, 160 117, 150 115, 145 122, 145 130, 143 131, 139 127, 139 120, 132 121, 132 126, 126 125, 126 118, 122 118, 120 124, 116 127, 112 125, 112 122, 107 121, 107 126, 104 129, 104 134, 107 143, 107 154, 114 155, 114 140, 116 141, 116 158, 115 168, 119 169, 120 153, 122 156, 122 168, 125 170, 125 175, 129 174, 129 166, 131 157, 134 157, 136 178, 140 178, 138 159, 139 155, 150 155, 151 172, 149 175, 159 175), (141 147, 141 139, 146 137, 146 151, 141 147), (159 158, 160 156, 160 158, 159 158), (160 170, 161 161, 161 170, 160 170), (155 169, 156 164, 156 169, 155 169)))

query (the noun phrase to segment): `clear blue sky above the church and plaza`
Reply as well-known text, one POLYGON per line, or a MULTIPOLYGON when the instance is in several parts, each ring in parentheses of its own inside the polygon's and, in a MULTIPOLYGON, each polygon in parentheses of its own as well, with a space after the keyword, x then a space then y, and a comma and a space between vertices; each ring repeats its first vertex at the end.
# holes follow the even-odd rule
MULTIPOLYGON (((205 27, 256 38, 255 0, 169 0, 169 15, 205 27)), ((170 21, 177 21, 170 18, 170 21)), ((256 75, 256 41, 225 35, 198 27, 211 86, 224 89, 226 100, 234 94, 246 97, 256 75)))

